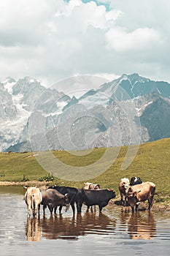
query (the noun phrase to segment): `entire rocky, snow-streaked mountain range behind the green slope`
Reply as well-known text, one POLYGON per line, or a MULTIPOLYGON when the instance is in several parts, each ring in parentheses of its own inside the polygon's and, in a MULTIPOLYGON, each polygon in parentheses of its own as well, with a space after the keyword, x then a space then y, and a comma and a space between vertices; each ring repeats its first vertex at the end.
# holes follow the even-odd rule
POLYGON ((70 97, 34 78, 0 82, 0 151, 76 150, 170 137, 170 84, 134 73, 70 97))

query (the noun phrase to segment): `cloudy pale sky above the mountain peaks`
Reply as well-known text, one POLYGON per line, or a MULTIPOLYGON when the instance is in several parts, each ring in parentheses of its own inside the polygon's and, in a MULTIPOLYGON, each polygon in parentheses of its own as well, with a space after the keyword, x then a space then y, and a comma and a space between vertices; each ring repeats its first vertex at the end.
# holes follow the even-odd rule
POLYGON ((170 82, 169 0, 0 0, 0 10, 0 80, 138 72, 170 82))

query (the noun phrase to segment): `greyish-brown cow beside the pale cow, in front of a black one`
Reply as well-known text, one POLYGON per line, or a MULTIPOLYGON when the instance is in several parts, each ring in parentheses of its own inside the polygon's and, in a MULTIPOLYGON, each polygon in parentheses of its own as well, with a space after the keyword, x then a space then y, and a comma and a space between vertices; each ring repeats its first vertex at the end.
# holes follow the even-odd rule
POLYGON ((43 213, 45 215, 45 208, 48 207, 50 214, 53 214, 53 208, 57 206, 66 206, 66 209, 69 208, 69 195, 62 195, 55 189, 42 189, 42 205, 43 213))

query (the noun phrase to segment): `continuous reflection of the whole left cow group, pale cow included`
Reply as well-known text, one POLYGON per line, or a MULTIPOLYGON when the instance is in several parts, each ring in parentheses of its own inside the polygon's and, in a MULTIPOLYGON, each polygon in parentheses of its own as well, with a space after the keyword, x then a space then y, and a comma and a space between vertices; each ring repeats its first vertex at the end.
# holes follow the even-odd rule
POLYGON ((53 214, 42 219, 28 218, 26 237, 28 241, 46 239, 78 239, 88 234, 115 233, 116 222, 105 214, 85 213, 73 217, 53 214))

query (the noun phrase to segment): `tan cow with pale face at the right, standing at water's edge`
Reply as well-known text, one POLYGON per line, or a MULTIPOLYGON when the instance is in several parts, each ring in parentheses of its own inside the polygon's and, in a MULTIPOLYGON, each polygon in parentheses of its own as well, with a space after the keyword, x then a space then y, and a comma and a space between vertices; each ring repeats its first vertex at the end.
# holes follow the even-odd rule
POLYGON ((137 211, 139 203, 148 201, 148 210, 152 208, 153 197, 155 195, 155 184, 147 181, 142 184, 130 186, 128 188, 128 203, 131 206, 132 212, 134 212, 134 207, 137 211))

